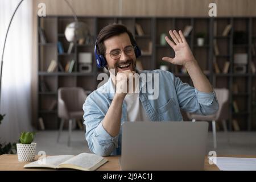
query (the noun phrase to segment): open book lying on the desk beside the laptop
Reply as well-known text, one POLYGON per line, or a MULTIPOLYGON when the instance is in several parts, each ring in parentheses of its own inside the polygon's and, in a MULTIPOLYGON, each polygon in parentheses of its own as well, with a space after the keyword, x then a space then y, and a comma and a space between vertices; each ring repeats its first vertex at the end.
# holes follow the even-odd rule
POLYGON ((108 162, 108 159, 102 156, 89 153, 81 153, 79 155, 55 155, 47 156, 44 159, 36 160, 35 162, 26 164, 24 168, 70 168, 82 171, 94 171, 98 167, 108 162))

